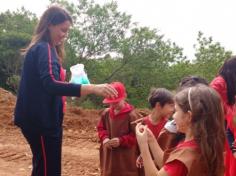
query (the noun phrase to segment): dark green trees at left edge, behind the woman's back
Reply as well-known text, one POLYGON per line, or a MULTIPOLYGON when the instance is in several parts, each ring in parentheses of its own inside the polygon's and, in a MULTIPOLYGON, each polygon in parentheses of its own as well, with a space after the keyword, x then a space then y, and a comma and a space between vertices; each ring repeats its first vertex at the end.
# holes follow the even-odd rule
POLYGON ((37 18, 24 8, 0 14, 0 85, 14 91, 22 67, 20 49, 33 33, 37 18))

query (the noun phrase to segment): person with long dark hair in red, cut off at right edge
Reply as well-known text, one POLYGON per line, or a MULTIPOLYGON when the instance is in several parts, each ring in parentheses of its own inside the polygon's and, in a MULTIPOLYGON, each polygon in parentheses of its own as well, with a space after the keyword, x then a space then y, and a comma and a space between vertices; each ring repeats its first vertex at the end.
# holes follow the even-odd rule
POLYGON ((214 78, 210 86, 215 89, 224 107, 225 122, 227 128, 226 155, 225 155, 225 176, 236 175, 236 56, 227 59, 214 78))

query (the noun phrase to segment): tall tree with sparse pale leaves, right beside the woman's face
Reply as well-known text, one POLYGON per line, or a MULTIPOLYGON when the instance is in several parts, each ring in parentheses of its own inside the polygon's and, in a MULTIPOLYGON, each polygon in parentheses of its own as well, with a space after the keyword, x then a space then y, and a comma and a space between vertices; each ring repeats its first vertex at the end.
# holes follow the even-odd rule
POLYGON ((131 16, 119 12, 114 1, 104 5, 93 0, 81 0, 78 4, 51 0, 51 3, 62 4, 73 17, 68 43, 79 61, 116 53, 131 25, 131 16))

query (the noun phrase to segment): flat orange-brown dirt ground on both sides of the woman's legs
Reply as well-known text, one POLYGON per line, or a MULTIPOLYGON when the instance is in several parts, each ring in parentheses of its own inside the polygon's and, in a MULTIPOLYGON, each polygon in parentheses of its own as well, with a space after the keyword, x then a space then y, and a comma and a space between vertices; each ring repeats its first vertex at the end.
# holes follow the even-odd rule
MULTIPOLYGON (((1 131, 0 175, 30 175, 32 158, 30 149, 18 130, 11 130, 11 133, 1 131)), ((67 139, 63 143, 62 175, 99 175, 98 146, 98 143, 87 139, 67 139)))

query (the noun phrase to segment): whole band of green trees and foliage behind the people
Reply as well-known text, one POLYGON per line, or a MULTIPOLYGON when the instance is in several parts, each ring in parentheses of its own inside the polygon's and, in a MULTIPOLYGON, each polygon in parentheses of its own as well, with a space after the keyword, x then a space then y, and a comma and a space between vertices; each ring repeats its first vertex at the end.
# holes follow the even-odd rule
MULTIPOLYGON (((74 21, 65 44, 63 65, 67 73, 70 66, 83 63, 91 83, 121 81, 128 92, 127 100, 137 107, 147 107, 152 87, 174 90, 189 75, 210 81, 232 55, 199 32, 194 46, 196 59, 189 60, 181 47, 164 40, 157 29, 139 27, 130 15, 119 12, 115 1, 103 5, 93 0, 50 2, 67 8, 74 21)), ((29 43, 37 21, 24 8, 0 14, 0 86, 17 91, 23 63, 20 49, 29 43)), ((102 98, 94 95, 68 100, 79 106, 103 107, 102 98)))

